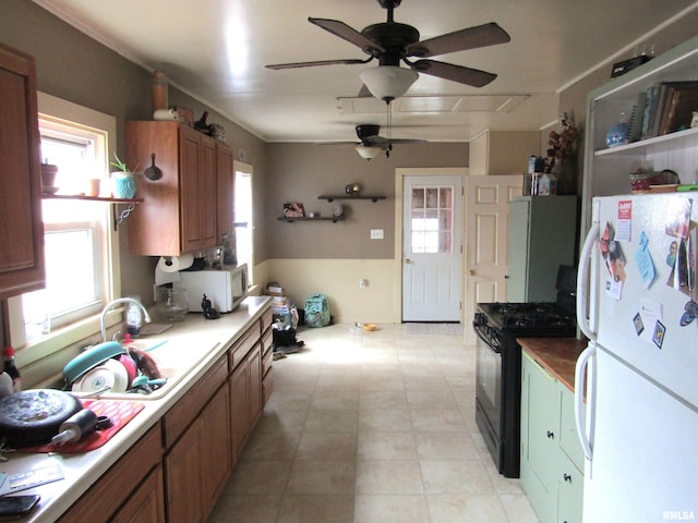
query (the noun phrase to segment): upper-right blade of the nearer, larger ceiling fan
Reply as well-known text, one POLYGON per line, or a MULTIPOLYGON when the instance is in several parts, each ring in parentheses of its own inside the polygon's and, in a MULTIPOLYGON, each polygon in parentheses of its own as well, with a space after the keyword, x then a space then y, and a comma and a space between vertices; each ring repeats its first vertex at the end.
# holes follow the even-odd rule
POLYGON ((424 41, 416 41, 407 46, 408 57, 435 57, 448 52, 477 49, 478 47, 506 44, 512 37, 494 22, 446 35, 436 36, 424 41))

